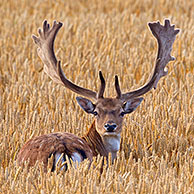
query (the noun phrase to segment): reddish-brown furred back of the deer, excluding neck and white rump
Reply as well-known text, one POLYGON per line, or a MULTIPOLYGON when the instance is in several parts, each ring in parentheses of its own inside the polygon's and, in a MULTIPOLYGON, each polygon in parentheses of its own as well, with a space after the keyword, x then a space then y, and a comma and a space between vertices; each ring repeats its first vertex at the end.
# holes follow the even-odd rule
POLYGON ((51 133, 29 140, 20 150, 17 162, 22 165, 28 161, 28 165, 31 167, 38 160, 44 163, 46 170, 48 158, 52 154, 59 152, 71 157, 72 153, 78 152, 78 150, 84 150, 86 157, 90 161, 92 160, 92 150, 84 139, 71 133, 51 133))

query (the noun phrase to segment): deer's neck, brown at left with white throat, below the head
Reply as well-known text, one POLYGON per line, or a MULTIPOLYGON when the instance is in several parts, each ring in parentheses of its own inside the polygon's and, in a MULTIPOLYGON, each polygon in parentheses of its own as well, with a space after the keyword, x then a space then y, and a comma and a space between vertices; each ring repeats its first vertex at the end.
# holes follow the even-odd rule
POLYGON ((117 151, 120 148, 120 135, 115 137, 101 136, 97 130, 95 121, 92 123, 87 134, 83 136, 83 139, 87 141, 88 145, 92 149, 93 155, 108 157, 108 154, 111 153, 112 160, 116 158, 117 151))

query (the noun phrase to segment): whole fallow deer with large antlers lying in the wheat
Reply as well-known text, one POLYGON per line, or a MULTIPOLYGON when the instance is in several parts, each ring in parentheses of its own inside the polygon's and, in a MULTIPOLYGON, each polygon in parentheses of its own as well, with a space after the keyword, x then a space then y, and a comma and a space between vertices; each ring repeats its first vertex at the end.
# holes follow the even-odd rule
POLYGON ((66 157, 78 163, 86 158, 92 161, 93 157, 98 154, 107 157, 111 153, 112 160, 116 158, 120 149, 124 115, 133 112, 140 105, 143 100, 140 96, 152 88, 156 89, 160 78, 168 73, 165 71, 166 65, 169 61, 175 60, 171 56, 171 50, 179 29, 174 29, 174 25, 171 25, 168 19, 165 20, 164 25, 153 22, 148 23, 148 26, 158 43, 158 54, 151 78, 144 86, 122 93, 116 75, 116 97, 104 98, 105 80, 101 71, 99 72, 101 86, 98 92, 82 88, 67 79, 54 53, 54 41, 62 23, 54 21, 50 28, 47 21, 44 21, 43 30, 38 30, 39 37, 32 36, 38 46, 38 55, 44 63, 44 71, 54 82, 83 96, 76 98, 78 104, 86 113, 93 114, 95 119, 83 137, 58 132, 32 138, 18 154, 17 161, 20 165, 28 161, 29 166, 33 166, 36 161, 41 161, 47 170, 48 159, 51 155, 53 155, 52 170, 55 169, 59 159, 65 162, 66 157), (87 98, 92 99, 95 103, 87 98))

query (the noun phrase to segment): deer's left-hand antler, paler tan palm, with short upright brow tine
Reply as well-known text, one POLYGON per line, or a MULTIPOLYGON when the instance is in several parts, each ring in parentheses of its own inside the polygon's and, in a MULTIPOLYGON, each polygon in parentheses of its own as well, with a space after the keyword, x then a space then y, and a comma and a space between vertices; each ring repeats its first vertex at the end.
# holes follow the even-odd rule
POLYGON ((54 41, 57 35, 57 32, 62 27, 62 23, 53 22, 52 28, 50 28, 49 24, 45 20, 43 22, 43 30, 39 29, 39 37, 32 35, 32 38, 35 44, 38 45, 38 55, 44 63, 44 71, 49 75, 49 77, 60 84, 63 84, 65 87, 69 88, 73 92, 80 94, 85 97, 92 98, 96 100, 97 98, 103 98, 103 93, 105 89, 105 81, 102 76, 102 73, 99 72, 101 87, 98 94, 94 91, 88 90, 86 88, 82 88, 78 85, 75 85, 71 81, 69 81, 62 68, 60 61, 57 61, 57 58, 54 53, 54 41))

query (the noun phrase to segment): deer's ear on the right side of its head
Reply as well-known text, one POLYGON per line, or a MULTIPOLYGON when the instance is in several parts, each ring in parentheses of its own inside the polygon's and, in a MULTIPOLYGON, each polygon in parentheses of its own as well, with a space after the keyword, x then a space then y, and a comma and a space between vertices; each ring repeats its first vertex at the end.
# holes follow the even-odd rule
POLYGON ((124 113, 128 114, 133 112, 141 104, 142 100, 143 98, 134 98, 128 100, 123 106, 124 113))

